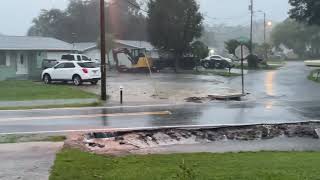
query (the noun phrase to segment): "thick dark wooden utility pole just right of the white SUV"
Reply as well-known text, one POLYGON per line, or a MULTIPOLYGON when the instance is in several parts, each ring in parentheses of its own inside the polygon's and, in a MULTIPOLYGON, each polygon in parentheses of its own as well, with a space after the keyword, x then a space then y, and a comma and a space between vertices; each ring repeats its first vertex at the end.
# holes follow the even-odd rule
POLYGON ((107 100, 107 73, 106 73, 106 37, 105 37, 105 6, 100 0, 100 54, 101 54, 101 100, 107 100))

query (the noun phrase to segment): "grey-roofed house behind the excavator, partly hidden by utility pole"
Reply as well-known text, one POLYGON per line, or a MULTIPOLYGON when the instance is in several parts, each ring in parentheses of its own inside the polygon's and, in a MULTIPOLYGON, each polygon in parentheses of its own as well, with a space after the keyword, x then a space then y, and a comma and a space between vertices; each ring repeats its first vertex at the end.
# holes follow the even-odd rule
MULTIPOLYGON (((75 43, 75 49, 82 54, 85 54, 86 56, 94 59, 94 60, 100 60, 100 49, 97 46, 96 42, 83 42, 83 43, 75 43)), ((151 45, 151 43, 146 42, 146 41, 131 41, 131 40, 115 40, 115 48, 127 48, 127 49, 138 49, 138 48, 143 48, 146 49, 147 54, 154 58, 157 59, 159 58, 159 54, 157 49, 151 45)), ((113 60, 113 55, 112 52, 109 53, 109 58, 110 62, 112 65, 115 65, 115 62, 113 60)), ((119 55, 119 64, 121 65, 126 65, 130 66, 131 63, 129 62, 128 58, 120 54, 119 55)))

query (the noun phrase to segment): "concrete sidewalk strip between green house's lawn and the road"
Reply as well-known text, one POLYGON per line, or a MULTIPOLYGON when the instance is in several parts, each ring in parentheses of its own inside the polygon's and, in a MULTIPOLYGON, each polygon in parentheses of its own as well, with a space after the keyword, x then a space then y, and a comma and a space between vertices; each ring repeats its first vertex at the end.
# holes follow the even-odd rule
POLYGON ((0 101, 0 108, 90 104, 90 103, 95 103, 97 101, 98 101, 97 99, 53 99, 53 100, 31 100, 31 101, 0 101))

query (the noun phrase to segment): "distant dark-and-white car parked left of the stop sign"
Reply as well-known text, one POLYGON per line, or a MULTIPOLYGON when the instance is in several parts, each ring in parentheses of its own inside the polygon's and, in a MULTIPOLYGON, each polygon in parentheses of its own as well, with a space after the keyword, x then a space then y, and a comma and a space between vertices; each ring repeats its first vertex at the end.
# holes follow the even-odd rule
POLYGON ((233 61, 219 55, 209 56, 200 61, 206 69, 225 69, 234 67, 233 61))

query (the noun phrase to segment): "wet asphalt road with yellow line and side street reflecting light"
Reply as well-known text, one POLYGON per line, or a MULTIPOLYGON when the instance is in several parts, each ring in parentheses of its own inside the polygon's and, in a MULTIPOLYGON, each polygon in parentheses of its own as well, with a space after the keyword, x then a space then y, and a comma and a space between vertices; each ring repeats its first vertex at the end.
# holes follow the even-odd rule
MULTIPOLYGON (((280 70, 249 72, 246 91, 250 95, 241 102, 0 111, 0 133, 318 120, 320 84, 306 79, 309 72, 302 62, 289 62, 280 70)), ((224 81, 224 86, 241 88, 240 77, 224 81)))

